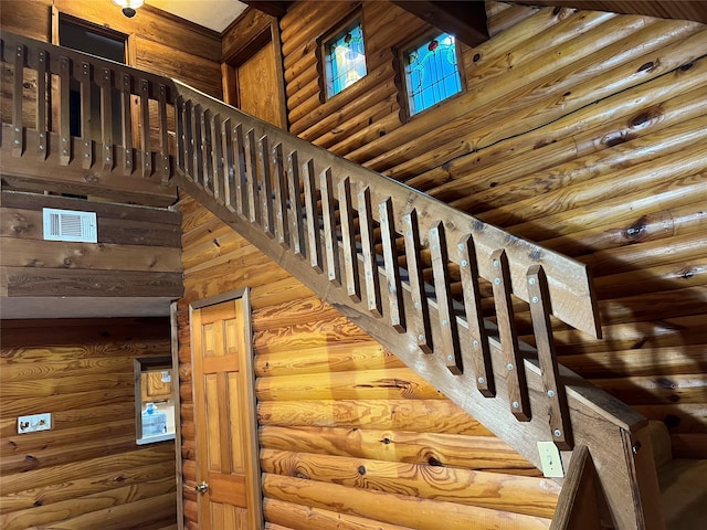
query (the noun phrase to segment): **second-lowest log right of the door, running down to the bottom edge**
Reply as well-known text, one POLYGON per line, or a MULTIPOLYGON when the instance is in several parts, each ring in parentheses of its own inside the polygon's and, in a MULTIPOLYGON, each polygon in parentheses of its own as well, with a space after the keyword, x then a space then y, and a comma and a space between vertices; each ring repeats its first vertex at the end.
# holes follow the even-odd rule
POLYGON ((484 521, 485 528, 498 530, 523 526, 527 529, 547 529, 549 520, 499 512, 486 508, 468 507, 452 502, 436 502, 410 496, 368 491, 331 484, 316 483, 298 478, 265 474, 263 477, 265 496, 289 502, 300 502, 327 509, 336 505, 339 510, 360 517, 376 517, 383 522, 412 526, 420 530, 437 529, 444 520, 449 530, 467 529, 469 521, 484 521))

